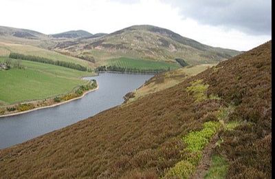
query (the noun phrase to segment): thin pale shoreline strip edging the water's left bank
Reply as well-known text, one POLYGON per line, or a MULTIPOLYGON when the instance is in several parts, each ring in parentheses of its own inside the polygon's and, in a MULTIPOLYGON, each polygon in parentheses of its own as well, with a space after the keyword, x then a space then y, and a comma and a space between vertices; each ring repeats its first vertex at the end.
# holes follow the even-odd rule
POLYGON ((27 111, 24 111, 24 112, 16 112, 16 113, 11 113, 11 114, 4 114, 4 115, 1 115, 0 118, 10 117, 10 116, 17 116, 17 115, 25 114, 25 113, 28 113, 28 112, 33 112, 33 111, 36 111, 36 110, 39 110, 39 109, 45 109, 45 108, 50 108, 50 107, 56 107, 56 106, 58 106, 58 105, 63 105, 63 104, 65 104, 65 103, 69 103, 69 102, 71 102, 71 101, 74 101, 74 100, 83 98, 83 97, 84 97, 86 94, 88 94, 89 92, 94 92, 94 91, 96 91, 97 89, 99 89, 99 86, 97 86, 96 88, 91 89, 91 90, 89 90, 89 91, 83 93, 82 96, 78 96, 77 98, 69 99, 68 101, 63 101, 63 102, 61 102, 61 103, 56 103, 56 104, 53 104, 53 105, 47 105, 47 106, 43 106, 43 107, 37 107, 37 108, 30 109, 30 110, 27 110, 27 111))

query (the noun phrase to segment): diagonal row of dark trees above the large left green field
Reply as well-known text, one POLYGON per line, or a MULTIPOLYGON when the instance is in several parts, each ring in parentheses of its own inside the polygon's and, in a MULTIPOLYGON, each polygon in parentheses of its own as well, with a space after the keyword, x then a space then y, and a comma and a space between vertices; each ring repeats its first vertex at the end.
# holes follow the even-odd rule
POLYGON ((84 67, 82 65, 76 64, 76 63, 71 63, 67 61, 54 61, 52 59, 47 59, 41 56, 31 56, 31 55, 24 55, 24 54, 18 54, 11 52, 10 56, 11 59, 22 59, 24 61, 36 61, 40 63, 47 63, 47 64, 52 64, 52 65, 58 65, 61 67, 68 67, 72 68, 74 70, 79 70, 79 71, 87 71, 87 67, 84 67))

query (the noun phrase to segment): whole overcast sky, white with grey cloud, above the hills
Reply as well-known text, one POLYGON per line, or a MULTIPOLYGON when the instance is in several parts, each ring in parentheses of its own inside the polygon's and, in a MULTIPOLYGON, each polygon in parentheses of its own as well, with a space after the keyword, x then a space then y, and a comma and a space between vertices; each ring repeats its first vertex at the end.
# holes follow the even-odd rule
POLYGON ((0 25, 45 34, 111 33, 156 25, 214 47, 250 50, 271 39, 272 0, 1 0, 0 25))

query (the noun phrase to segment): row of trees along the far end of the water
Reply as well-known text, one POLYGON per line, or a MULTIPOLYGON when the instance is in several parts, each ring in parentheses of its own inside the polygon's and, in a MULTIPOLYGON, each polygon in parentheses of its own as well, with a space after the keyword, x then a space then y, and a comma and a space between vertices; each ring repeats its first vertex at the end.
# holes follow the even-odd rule
POLYGON ((126 73, 153 73, 153 74, 157 74, 157 73, 160 73, 160 72, 166 72, 166 71, 169 71, 170 70, 170 67, 168 67, 167 70, 164 70, 164 69, 138 69, 138 68, 126 68, 126 67, 118 67, 118 66, 115 66, 115 65, 110 65, 110 66, 99 66, 96 68, 96 72, 126 72, 126 73))

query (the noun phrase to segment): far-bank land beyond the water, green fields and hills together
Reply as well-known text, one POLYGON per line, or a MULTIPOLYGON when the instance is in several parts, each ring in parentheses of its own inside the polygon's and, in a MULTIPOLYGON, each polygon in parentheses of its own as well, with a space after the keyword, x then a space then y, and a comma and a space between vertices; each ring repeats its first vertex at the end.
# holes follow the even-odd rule
POLYGON ((240 53, 212 48, 151 25, 134 25, 111 34, 72 30, 49 35, 1 26, 0 40, 1 63, 23 66, 0 72, 2 115, 17 112, 13 109, 30 101, 37 101, 32 102, 35 107, 52 105, 54 98, 85 85, 81 76, 102 71, 157 74, 179 69, 182 63, 176 59, 186 65, 214 64, 240 53))

